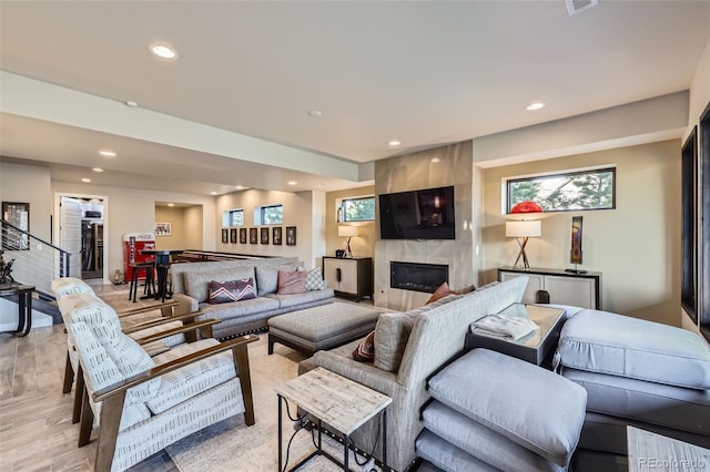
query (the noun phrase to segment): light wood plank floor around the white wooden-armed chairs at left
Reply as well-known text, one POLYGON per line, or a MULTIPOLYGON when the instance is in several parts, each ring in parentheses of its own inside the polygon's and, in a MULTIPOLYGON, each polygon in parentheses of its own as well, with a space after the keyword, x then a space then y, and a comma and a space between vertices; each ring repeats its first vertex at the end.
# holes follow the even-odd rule
MULTIPOLYGON (((24 338, 0 335, 0 471, 93 471, 97 441, 77 447, 74 392, 62 393, 65 359, 63 325, 32 329, 24 338)), ((131 471, 176 469, 163 451, 131 471)))

